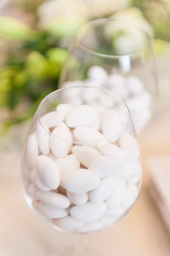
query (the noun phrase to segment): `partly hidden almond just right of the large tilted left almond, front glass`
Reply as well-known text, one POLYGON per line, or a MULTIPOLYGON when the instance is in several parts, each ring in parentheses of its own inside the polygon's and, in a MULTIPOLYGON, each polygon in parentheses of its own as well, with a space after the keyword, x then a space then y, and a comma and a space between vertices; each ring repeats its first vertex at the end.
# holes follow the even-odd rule
POLYGON ((55 160, 55 164, 57 165, 60 173, 60 184, 65 189, 67 179, 72 175, 72 173, 77 171, 77 169, 74 169, 74 166, 72 166, 70 161, 66 158, 59 158, 55 160))

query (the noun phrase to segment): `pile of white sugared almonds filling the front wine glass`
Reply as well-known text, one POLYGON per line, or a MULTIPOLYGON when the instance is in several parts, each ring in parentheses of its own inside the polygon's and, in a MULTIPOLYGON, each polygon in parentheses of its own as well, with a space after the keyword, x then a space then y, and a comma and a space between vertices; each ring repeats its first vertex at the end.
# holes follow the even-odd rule
POLYGON ((115 110, 60 104, 37 121, 24 150, 29 206, 55 227, 90 233, 112 225, 139 193, 140 150, 115 110), (100 132, 101 131, 101 132, 100 132), (30 203, 31 202, 31 203, 30 203))

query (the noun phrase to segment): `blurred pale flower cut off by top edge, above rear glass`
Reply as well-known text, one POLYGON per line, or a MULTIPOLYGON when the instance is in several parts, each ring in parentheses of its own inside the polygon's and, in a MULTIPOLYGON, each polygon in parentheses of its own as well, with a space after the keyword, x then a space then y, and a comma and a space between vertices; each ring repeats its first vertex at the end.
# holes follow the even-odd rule
POLYGON ((85 0, 92 18, 106 17, 125 8, 130 0, 85 0))

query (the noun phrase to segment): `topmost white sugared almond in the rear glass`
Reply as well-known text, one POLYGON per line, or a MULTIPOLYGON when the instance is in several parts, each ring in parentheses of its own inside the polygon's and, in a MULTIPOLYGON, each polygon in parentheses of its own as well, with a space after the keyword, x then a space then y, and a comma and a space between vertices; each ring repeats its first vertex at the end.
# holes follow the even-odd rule
POLYGON ((100 82, 100 84, 104 83, 108 79, 107 71, 100 66, 90 67, 87 75, 90 79, 100 82))

